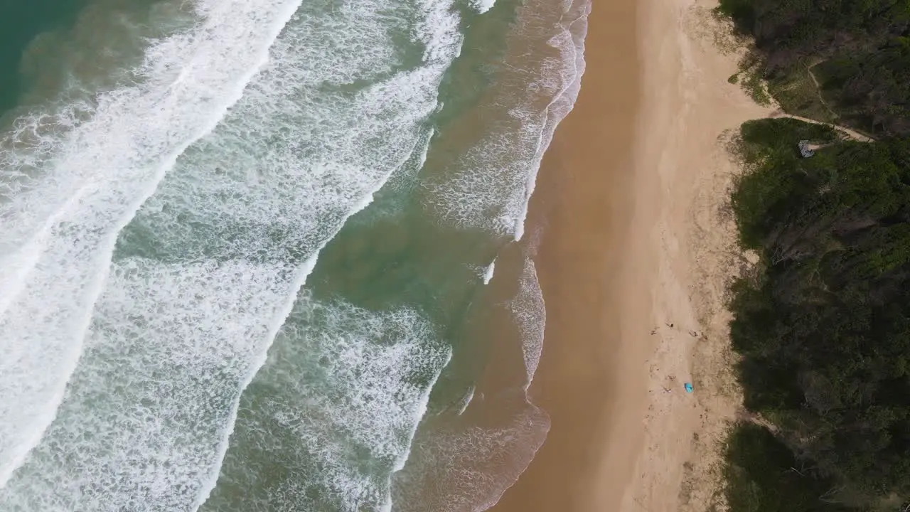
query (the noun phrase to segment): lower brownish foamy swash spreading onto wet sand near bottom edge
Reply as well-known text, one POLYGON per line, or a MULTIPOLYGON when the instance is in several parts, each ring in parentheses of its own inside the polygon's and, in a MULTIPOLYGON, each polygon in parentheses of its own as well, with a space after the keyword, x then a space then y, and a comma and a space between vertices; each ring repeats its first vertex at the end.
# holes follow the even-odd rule
POLYGON ((458 401, 424 419, 413 455, 394 477, 396 512, 487 510, 518 480, 543 444, 550 417, 531 403, 527 393, 541 358, 546 324, 530 256, 518 284, 515 296, 503 305, 521 334, 524 381, 495 390, 486 399, 481 392, 469 411, 475 402, 472 384, 458 401))

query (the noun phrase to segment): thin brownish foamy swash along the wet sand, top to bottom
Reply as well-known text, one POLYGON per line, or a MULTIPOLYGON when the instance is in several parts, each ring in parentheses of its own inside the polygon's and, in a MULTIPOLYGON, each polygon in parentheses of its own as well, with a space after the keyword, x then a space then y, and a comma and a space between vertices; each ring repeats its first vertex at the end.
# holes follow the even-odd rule
MULTIPOLYGON (((497 87, 477 107, 484 109, 483 118, 493 120, 441 179, 424 183, 425 204, 441 220, 463 230, 521 240, 543 153, 578 96, 590 9, 589 2, 569 0, 519 8, 509 36, 513 46, 495 77, 497 87)), ((546 323, 531 259, 537 243, 530 245, 518 291, 505 304, 521 333, 525 381, 481 401, 471 415, 474 419, 459 414, 455 417, 463 421, 446 415, 425 420, 408 465, 396 479, 395 510, 486 510, 518 479, 543 443, 550 418, 527 394, 546 323), (440 481, 445 485, 434 484, 440 481)))

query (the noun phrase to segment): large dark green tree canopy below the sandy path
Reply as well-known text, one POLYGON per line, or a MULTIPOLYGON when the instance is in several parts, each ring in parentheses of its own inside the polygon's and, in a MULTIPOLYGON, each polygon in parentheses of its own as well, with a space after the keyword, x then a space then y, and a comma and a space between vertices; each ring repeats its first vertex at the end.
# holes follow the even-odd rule
POLYGON ((910 139, 800 158, 798 140, 834 138, 818 130, 743 125, 733 208, 763 254, 733 287, 745 404, 844 495, 910 497, 910 139))

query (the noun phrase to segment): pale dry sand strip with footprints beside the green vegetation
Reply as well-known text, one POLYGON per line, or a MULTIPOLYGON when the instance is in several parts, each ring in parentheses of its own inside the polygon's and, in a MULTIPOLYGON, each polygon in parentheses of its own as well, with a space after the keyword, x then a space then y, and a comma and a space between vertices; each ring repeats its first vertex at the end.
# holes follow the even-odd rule
POLYGON ((715 5, 642 4, 645 103, 637 197, 658 211, 652 226, 642 226, 658 260, 651 279, 656 340, 634 477, 620 507, 603 510, 724 509, 723 439, 741 406, 725 305, 729 283, 750 264, 736 246, 728 208, 739 171, 728 143, 743 121, 772 109, 727 81, 742 46, 732 27, 713 15, 715 5), (684 392, 685 382, 693 383, 693 394, 684 392))

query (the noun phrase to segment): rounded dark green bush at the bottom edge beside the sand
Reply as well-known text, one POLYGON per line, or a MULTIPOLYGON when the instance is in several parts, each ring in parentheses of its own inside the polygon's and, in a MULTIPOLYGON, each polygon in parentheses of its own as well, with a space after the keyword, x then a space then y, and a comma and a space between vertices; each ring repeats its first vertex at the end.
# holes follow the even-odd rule
POLYGON ((825 501, 836 488, 796 460, 763 426, 737 425, 727 439, 725 495, 733 512, 838 512, 825 501))

